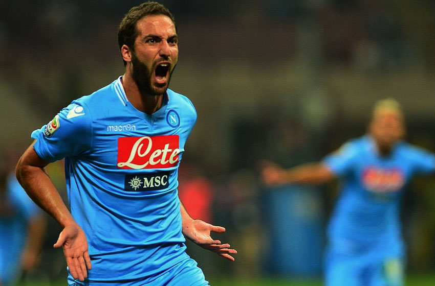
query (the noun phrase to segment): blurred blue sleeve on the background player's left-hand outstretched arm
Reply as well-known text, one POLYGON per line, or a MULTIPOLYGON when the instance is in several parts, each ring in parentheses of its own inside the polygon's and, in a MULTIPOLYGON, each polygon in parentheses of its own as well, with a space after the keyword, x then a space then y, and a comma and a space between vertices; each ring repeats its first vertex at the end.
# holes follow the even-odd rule
POLYGON ((358 154, 357 151, 355 143, 346 142, 340 149, 326 156, 323 159, 323 163, 327 165, 334 174, 343 176, 353 167, 358 154))

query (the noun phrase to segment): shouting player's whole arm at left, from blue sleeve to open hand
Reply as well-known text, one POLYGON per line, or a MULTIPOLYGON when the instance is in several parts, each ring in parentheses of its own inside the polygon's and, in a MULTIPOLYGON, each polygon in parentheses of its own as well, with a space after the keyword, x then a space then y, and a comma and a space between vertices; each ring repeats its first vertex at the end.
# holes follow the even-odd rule
POLYGON ((84 280, 91 269, 88 241, 75 222, 57 189, 46 174, 45 166, 62 158, 77 158, 92 145, 91 112, 83 97, 63 108, 53 120, 33 131, 33 144, 18 161, 16 176, 29 197, 47 211, 62 227, 54 247, 62 247, 71 275, 84 280))

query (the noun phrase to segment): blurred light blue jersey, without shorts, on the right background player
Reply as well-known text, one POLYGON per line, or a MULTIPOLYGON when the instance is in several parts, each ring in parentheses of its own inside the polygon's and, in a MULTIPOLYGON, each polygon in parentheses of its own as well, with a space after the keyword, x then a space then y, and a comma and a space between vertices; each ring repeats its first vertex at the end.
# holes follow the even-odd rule
POLYGON ((385 247, 400 248, 403 189, 413 175, 435 172, 435 156, 404 141, 390 155, 381 156, 374 139, 366 135, 347 142, 323 162, 343 179, 328 229, 330 239, 360 246, 389 242, 385 247))

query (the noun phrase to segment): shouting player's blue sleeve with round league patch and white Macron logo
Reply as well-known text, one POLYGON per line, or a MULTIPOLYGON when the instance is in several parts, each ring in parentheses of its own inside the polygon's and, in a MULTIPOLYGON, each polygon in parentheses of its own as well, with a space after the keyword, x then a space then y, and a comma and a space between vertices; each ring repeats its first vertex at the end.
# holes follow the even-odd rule
POLYGON ((36 153, 47 162, 74 157, 91 148, 92 118, 85 105, 73 102, 53 120, 32 132, 36 153))

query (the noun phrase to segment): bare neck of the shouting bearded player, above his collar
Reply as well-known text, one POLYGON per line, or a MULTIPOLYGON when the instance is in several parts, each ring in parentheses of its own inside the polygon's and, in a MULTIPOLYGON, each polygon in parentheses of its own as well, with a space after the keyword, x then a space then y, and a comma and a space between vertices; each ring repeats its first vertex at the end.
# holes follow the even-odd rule
POLYGON ((151 95, 142 92, 131 75, 125 73, 121 79, 128 101, 138 110, 153 114, 163 105, 163 94, 151 95))

